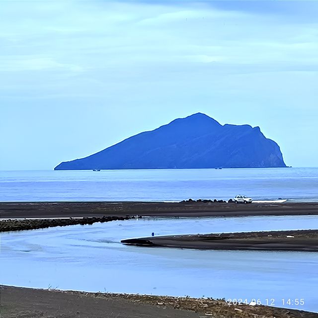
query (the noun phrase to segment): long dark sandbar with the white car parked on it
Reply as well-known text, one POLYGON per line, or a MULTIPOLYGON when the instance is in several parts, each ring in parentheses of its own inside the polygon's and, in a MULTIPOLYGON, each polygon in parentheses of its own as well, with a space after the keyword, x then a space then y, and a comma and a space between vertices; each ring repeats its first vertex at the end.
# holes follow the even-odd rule
POLYGON ((3 219, 135 215, 156 217, 318 215, 318 203, 0 202, 0 217, 3 219))

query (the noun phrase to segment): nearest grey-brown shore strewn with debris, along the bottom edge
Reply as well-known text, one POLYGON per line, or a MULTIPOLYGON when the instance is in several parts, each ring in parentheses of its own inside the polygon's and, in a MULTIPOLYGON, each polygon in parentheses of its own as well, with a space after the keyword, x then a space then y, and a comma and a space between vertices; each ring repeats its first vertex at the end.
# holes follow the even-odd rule
POLYGON ((229 305, 211 298, 86 293, 1 286, 1 317, 318 318, 268 306, 229 305))

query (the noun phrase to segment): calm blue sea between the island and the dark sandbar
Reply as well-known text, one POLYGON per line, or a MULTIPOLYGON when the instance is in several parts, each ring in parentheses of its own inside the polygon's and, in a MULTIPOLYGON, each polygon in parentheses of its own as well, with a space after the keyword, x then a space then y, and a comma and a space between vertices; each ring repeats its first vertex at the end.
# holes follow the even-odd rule
POLYGON ((0 171, 0 201, 318 201, 318 168, 0 171))

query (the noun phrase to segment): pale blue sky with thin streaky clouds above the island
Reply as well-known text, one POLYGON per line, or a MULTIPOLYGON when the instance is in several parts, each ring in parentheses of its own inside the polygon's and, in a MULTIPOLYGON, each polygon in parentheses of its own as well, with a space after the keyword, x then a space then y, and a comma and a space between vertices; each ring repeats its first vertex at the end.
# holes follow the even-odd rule
POLYGON ((0 170, 196 112, 318 166, 318 1, 0 1, 0 170))

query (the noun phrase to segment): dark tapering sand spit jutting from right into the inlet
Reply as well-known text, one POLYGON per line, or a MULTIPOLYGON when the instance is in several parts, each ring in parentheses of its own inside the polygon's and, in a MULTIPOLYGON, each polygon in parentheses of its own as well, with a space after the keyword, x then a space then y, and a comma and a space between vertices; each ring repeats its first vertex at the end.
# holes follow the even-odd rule
POLYGON ((138 246, 196 249, 318 251, 318 230, 174 235, 122 239, 138 246))

